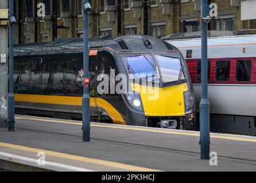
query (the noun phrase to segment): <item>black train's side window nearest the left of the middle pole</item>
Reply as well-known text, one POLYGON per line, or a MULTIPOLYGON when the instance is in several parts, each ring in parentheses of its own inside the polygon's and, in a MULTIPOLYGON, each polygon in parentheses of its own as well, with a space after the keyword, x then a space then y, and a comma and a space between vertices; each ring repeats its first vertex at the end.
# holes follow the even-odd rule
POLYGON ((66 69, 66 84, 75 85, 76 83, 76 64, 75 60, 67 61, 65 65, 66 69))

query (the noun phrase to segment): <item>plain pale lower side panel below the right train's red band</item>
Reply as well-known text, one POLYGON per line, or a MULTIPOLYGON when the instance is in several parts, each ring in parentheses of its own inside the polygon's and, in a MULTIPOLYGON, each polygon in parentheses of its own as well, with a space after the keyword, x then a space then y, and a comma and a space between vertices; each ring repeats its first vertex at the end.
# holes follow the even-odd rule
MULTIPOLYGON (((193 85, 197 109, 201 100, 201 85, 193 85)), ((256 85, 208 85, 211 113, 256 116, 256 85)))

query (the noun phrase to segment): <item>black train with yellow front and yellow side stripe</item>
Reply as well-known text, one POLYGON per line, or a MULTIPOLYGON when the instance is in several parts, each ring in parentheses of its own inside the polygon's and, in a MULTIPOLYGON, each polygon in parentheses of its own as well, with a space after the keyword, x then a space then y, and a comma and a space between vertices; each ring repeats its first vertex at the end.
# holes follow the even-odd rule
MULTIPOLYGON (((89 48, 91 121, 195 128, 192 83, 176 47, 146 35, 130 35, 92 38, 89 48), (122 90, 129 92, 115 91, 123 82, 118 74, 126 76, 127 87, 122 90), (98 87, 105 76, 113 75, 109 85, 98 87)), ((15 112, 81 118, 82 68, 83 39, 16 45, 15 112)))

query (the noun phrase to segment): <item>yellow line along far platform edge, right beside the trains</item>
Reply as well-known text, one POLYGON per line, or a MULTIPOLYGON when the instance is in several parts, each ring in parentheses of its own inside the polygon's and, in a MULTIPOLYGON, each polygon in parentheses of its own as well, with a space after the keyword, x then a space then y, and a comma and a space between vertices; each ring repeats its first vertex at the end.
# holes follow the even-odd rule
MULTIPOLYGON (((61 121, 61 120, 47 120, 47 119, 40 119, 40 118, 25 118, 25 117, 16 117, 17 120, 32 120, 32 121, 42 121, 42 122, 53 122, 53 123, 60 123, 60 124, 71 124, 71 125, 82 125, 81 122, 68 122, 68 121, 61 121)), ((143 132, 154 132, 154 133, 164 133, 164 134, 176 134, 176 135, 183 135, 183 136, 194 136, 200 137, 199 133, 193 132, 173 132, 168 130, 157 130, 157 129, 150 129, 150 128, 136 128, 132 126, 107 126, 107 125, 98 125, 98 124, 91 124, 94 127, 102 127, 102 128, 111 128, 111 129, 124 129, 124 130, 135 130, 135 131, 143 131, 143 132)), ((222 136, 220 134, 211 134, 211 138, 219 138, 223 140, 233 140, 233 141, 244 141, 244 142, 256 142, 256 138, 250 137, 228 137, 222 136)))

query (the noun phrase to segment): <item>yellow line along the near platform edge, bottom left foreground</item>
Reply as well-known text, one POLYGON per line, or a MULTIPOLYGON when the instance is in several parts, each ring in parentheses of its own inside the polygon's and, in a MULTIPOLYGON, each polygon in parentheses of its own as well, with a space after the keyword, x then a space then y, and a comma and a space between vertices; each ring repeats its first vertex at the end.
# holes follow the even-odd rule
POLYGON ((0 142, 0 146, 3 146, 5 148, 24 150, 24 151, 33 152, 33 153, 44 152, 48 156, 55 156, 55 157, 64 158, 64 159, 68 159, 68 160, 82 161, 82 162, 87 162, 87 163, 91 163, 91 164, 98 164, 98 165, 103 165, 103 166, 108 166, 108 167, 113 167, 113 168, 118 168, 118 169, 124 169, 124 170, 132 171, 132 172, 133 171, 135 171, 135 172, 160 172, 161 171, 161 170, 156 170, 156 169, 144 168, 141 166, 122 164, 119 162, 98 160, 98 159, 94 159, 94 158, 75 156, 72 154, 65 154, 65 153, 53 152, 53 151, 49 151, 49 150, 29 148, 26 146, 20 146, 20 145, 14 145, 14 144, 6 144, 3 142, 0 142))

